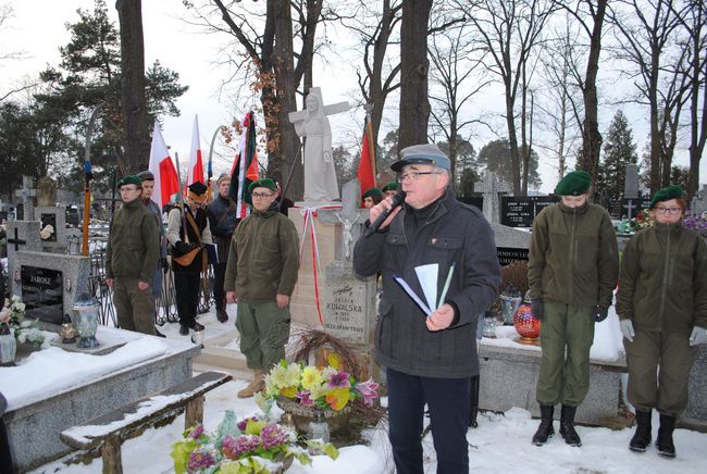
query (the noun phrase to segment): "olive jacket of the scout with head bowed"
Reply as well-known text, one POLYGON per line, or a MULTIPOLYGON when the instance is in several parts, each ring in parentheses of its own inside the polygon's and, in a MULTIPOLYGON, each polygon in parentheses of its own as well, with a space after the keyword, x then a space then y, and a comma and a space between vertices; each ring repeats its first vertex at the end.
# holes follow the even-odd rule
POLYGON ((618 274, 616 232, 604 208, 558 202, 537 214, 528 262, 531 298, 608 308, 618 274))

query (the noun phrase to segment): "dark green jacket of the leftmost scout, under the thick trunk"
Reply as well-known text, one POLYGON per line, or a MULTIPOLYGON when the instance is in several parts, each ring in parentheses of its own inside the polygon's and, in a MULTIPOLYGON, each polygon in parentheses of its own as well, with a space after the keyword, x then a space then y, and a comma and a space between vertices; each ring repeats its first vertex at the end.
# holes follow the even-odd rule
POLYGON ((152 282, 159 260, 160 232, 154 215, 140 199, 124 203, 111 221, 106 277, 152 282))

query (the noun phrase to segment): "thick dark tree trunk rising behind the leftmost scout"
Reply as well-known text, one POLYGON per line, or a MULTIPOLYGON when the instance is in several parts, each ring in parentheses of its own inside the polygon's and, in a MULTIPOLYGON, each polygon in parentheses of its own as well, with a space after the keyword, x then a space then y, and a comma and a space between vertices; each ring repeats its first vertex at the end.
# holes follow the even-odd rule
POLYGON ((121 25, 121 112, 123 114, 123 149, 127 171, 147 169, 150 136, 145 97, 145 46, 142 39, 142 1, 116 0, 121 25))

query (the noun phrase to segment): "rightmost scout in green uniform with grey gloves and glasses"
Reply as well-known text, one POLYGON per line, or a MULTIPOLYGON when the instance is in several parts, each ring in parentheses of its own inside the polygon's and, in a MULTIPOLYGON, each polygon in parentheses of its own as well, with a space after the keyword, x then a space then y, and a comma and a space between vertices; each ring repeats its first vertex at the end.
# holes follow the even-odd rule
POLYGON ((629 449, 650 444, 650 412, 660 413, 656 447, 675 457, 672 432, 687 407, 690 370, 698 344, 707 342, 707 245, 682 226, 680 186, 660 189, 650 200, 653 226, 627 244, 621 259, 617 312, 629 369, 629 402, 636 432, 629 449))

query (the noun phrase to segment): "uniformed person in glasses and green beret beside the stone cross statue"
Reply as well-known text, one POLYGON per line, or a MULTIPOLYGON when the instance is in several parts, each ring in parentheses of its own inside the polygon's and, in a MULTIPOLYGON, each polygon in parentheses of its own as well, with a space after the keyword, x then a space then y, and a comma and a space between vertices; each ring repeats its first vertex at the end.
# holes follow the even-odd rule
POLYGON ((255 373, 239 398, 262 390, 264 373, 285 358, 289 297, 299 267, 299 237, 295 224, 280 212, 275 182, 259 179, 248 192, 253 212, 234 230, 224 278, 226 300, 238 303, 240 352, 255 373))

